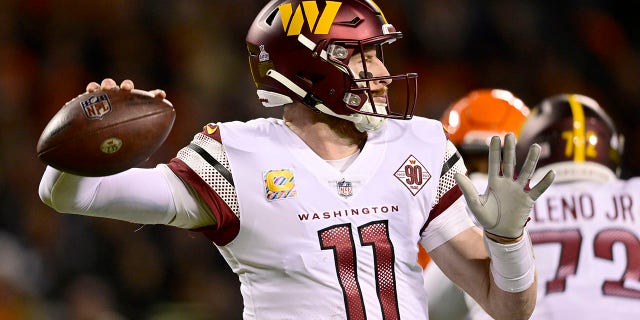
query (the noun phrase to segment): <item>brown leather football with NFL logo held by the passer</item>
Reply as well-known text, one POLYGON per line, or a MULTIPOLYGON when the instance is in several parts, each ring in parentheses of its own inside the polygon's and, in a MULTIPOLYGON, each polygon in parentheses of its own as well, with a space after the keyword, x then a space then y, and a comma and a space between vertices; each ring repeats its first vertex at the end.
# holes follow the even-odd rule
POLYGON ((38 158, 80 176, 133 168, 165 141, 175 120, 171 102, 143 90, 98 90, 67 102, 44 128, 38 158))

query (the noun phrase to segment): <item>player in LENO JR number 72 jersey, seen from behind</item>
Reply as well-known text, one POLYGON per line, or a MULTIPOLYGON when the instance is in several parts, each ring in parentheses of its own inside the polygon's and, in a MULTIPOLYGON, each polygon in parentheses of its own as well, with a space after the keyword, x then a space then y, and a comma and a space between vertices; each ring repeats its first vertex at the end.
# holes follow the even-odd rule
POLYGON ((589 97, 552 96, 532 110, 519 143, 519 159, 540 144, 539 172, 557 173, 527 225, 538 270, 532 319, 637 319, 640 179, 618 178, 623 139, 612 120, 589 97))

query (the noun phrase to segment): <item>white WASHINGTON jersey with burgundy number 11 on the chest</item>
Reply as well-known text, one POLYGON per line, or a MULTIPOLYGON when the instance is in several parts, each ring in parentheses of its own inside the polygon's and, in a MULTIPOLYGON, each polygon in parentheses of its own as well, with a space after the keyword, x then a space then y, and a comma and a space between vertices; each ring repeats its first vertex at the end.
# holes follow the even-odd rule
POLYGON ((207 125, 169 167, 217 224, 245 319, 426 319, 418 242, 472 226, 438 121, 387 121, 341 172, 282 120, 207 125), (446 223, 445 223, 446 222, 446 223))

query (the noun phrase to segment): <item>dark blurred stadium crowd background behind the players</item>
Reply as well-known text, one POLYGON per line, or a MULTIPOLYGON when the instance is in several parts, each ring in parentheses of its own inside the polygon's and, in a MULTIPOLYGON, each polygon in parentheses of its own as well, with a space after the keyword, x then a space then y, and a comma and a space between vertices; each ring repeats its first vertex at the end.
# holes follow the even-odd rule
MULTIPOLYGON (((627 138, 623 176, 640 174, 633 1, 378 2, 405 34, 386 52, 392 72, 420 75, 417 115, 439 118, 480 87, 530 107, 582 93, 627 138)), ((204 237, 43 205, 35 146, 48 119, 104 77, 165 89, 176 107, 149 166, 209 121, 278 116, 258 104, 244 48, 264 3, 0 0, 0 320, 241 318, 238 281, 204 237)))

